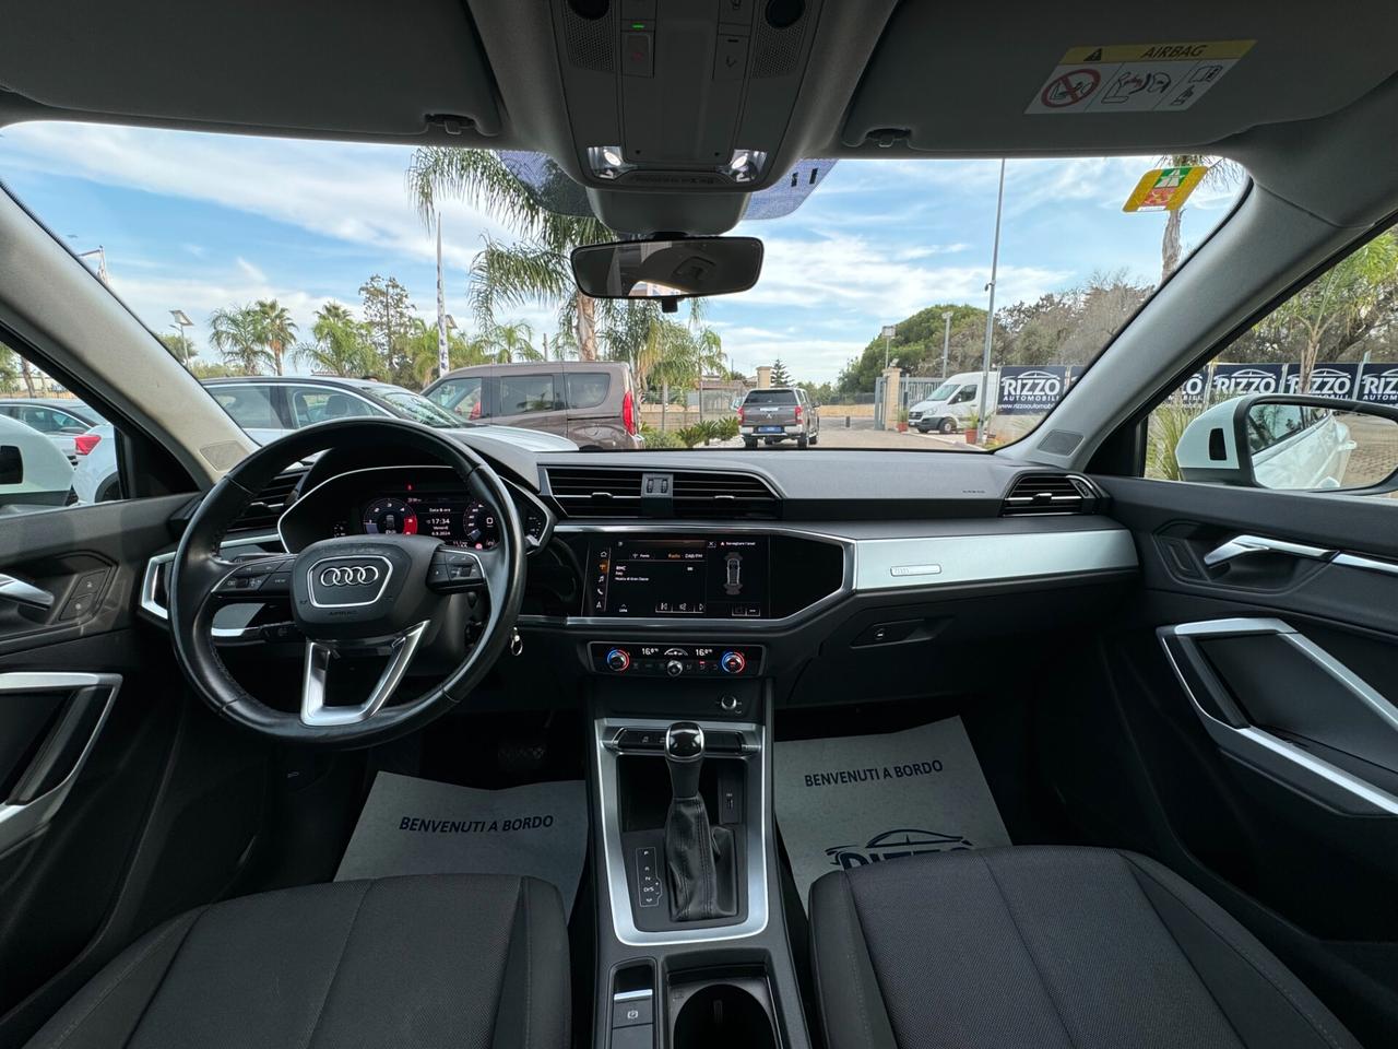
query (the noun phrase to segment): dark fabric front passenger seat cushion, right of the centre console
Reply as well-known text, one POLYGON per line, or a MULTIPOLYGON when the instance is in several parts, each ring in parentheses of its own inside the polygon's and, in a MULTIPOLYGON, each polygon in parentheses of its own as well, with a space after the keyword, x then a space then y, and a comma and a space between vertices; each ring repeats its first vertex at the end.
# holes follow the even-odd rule
POLYGON ((1357 1049, 1212 902, 1144 856, 1021 846, 811 890, 829 1049, 1357 1049))

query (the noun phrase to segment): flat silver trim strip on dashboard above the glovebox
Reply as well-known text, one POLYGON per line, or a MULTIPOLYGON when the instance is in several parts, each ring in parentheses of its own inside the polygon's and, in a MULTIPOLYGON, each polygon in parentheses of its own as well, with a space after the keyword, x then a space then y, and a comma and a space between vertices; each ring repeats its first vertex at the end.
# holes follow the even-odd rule
POLYGON ((1135 543, 1125 529, 861 538, 854 552, 856 590, 939 587, 1137 566, 1135 543), (938 571, 909 572, 923 566, 938 571))

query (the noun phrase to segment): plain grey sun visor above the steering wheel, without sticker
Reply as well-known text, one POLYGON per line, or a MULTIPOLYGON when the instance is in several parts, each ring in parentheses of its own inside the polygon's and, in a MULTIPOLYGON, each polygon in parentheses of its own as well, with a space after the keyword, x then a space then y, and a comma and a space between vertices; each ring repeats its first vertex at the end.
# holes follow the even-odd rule
POLYGON ((355 134, 498 134, 493 78, 450 0, 10 4, 4 90, 69 115, 355 134))

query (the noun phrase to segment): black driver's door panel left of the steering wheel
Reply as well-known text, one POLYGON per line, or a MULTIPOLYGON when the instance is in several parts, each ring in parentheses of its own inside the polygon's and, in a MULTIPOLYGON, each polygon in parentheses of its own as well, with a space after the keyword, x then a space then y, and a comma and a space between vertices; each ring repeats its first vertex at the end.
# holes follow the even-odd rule
POLYGON ((268 748, 185 688, 137 614, 189 497, 7 518, 0 572, 0 1049, 145 930, 217 899, 266 825, 268 748), (102 572, 85 593, 81 580, 102 572))

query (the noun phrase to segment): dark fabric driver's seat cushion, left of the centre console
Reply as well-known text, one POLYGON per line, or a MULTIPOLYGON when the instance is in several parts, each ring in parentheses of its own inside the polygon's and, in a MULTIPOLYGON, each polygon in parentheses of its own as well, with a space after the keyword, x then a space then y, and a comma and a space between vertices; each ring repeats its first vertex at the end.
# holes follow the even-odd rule
POLYGON ((566 1049, 558 890, 495 874, 214 904, 99 972, 29 1049, 566 1049))

